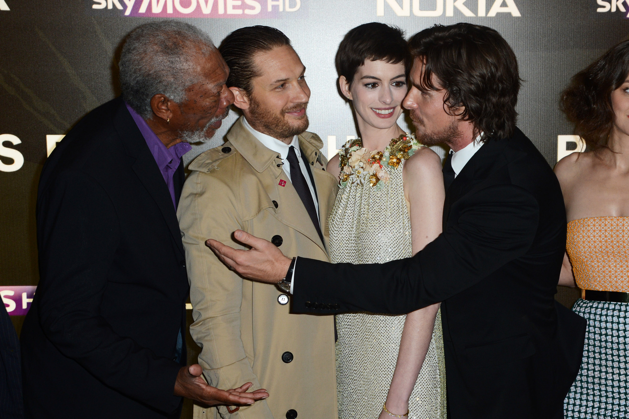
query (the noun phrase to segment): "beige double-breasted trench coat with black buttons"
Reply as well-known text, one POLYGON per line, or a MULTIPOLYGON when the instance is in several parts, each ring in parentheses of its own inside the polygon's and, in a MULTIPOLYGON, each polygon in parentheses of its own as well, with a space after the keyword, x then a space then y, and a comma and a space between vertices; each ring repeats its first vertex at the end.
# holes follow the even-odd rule
POLYGON ((177 211, 191 286, 190 332, 202 348, 199 364, 209 384, 228 389, 251 381, 251 390, 265 388, 270 396, 232 414, 222 406, 195 406, 194 417, 284 419, 295 410, 299 419, 337 418, 333 316, 291 314, 290 302, 279 303, 281 289, 243 279, 204 245, 214 238, 243 249, 231 238, 240 228, 267 240, 280 236, 288 257, 328 260, 328 215, 338 182, 324 170, 323 142, 307 131, 299 135, 315 179, 325 243, 277 153, 242 120, 227 138, 192 162, 177 211), (286 352, 291 362, 282 360, 286 352))

